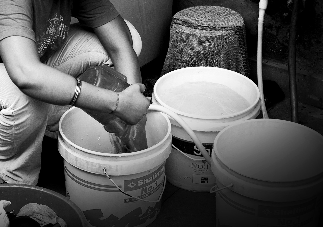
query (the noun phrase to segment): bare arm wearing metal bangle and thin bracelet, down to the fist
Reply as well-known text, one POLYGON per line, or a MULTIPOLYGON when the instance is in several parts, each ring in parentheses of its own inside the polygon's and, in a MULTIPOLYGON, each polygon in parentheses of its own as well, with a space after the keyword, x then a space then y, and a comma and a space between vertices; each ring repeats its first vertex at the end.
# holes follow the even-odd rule
MULTIPOLYGON (((0 41, 0 55, 9 77, 23 93, 51 104, 70 103, 77 84, 75 78, 41 63, 33 40, 22 36, 4 38, 0 41)), ((141 94, 143 90, 143 85, 136 84, 119 93, 114 114, 128 124, 136 124, 149 106, 141 94)), ((116 102, 115 92, 82 82, 75 106, 110 113, 116 102)))

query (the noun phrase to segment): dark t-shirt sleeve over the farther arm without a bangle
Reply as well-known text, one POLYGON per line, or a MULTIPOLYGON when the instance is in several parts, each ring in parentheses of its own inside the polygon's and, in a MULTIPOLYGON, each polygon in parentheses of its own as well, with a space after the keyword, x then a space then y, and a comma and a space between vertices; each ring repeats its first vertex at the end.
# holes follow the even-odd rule
POLYGON ((74 0, 72 16, 82 26, 99 27, 119 15, 109 0, 74 0))

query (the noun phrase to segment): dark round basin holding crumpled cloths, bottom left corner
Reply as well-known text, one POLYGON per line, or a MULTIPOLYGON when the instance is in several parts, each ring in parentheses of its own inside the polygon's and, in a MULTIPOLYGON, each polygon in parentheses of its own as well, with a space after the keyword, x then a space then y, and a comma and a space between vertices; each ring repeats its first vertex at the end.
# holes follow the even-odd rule
POLYGON ((26 184, 0 184, 0 198, 11 202, 5 211, 13 210, 18 214, 23 206, 35 202, 53 209, 67 226, 89 226, 83 212, 74 202, 46 188, 26 184))

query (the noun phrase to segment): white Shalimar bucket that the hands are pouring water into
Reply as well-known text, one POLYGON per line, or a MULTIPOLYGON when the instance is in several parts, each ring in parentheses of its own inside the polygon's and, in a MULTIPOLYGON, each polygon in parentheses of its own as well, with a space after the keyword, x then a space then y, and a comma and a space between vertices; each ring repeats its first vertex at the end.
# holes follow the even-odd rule
POLYGON ((109 153, 109 134, 79 108, 59 121, 58 150, 64 158, 67 197, 91 226, 147 226, 161 207, 165 160, 171 152, 171 124, 161 112, 148 111, 148 149, 109 153), (104 170, 123 194, 105 175, 104 170))

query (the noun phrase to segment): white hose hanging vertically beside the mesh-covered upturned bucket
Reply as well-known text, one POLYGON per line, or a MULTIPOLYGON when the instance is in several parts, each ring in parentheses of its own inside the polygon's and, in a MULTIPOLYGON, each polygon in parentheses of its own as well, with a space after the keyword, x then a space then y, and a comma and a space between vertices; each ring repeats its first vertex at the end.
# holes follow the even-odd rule
POLYGON ((268 0, 260 0, 259 2, 259 17, 258 17, 258 46, 257 46, 257 78, 258 88, 260 92, 261 111, 263 118, 269 118, 265 105, 263 77, 262 77, 262 35, 264 27, 265 11, 268 5, 268 0))

